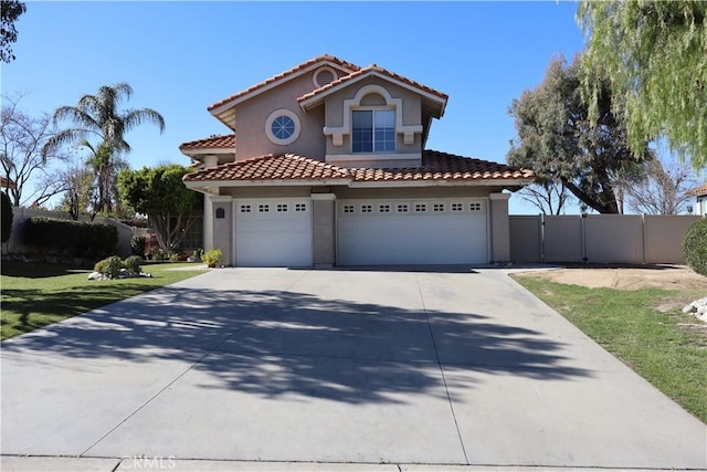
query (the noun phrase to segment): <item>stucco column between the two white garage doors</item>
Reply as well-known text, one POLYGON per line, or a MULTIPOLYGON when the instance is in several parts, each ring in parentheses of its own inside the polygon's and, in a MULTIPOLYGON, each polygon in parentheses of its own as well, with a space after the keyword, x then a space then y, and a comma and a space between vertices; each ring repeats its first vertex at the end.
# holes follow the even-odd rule
POLYGON ((312 193, 312 255, 315 268, 331 268, 336 262, 334 193, 312 193))

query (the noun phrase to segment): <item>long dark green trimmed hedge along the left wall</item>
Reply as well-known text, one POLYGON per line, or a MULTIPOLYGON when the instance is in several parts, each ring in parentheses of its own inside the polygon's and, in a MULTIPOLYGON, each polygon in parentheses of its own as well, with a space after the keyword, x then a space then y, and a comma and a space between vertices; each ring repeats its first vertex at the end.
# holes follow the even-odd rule
POLYGON ((113 224, 35 217, 24 222, 22 239, 49 253, 105 258, 115 253, 118 230, 113 224))

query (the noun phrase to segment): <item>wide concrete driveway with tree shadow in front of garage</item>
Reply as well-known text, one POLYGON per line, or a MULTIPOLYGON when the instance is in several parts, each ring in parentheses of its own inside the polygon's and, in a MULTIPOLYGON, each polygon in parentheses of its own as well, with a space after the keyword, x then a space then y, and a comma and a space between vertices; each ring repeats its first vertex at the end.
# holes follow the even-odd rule
POLYGON ((225 269, 2 343, 2 454, 707 468, 503 271, 225 269))

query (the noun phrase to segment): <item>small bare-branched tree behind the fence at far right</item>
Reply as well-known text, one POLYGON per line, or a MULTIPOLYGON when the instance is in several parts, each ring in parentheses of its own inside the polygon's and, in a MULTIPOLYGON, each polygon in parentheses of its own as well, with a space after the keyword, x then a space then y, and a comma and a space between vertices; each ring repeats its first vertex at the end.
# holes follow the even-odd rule
POLYGON ((634 213, 678 214, 692 200, 697 178, 683 161, 648 164, 646 178, 626 188, 627 206, 634 213))

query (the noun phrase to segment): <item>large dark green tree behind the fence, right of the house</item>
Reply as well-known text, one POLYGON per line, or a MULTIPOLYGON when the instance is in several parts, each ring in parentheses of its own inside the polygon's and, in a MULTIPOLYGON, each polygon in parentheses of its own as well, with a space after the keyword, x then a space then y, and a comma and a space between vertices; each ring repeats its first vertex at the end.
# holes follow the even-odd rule
POLYGON ((581 93, 579 57, 569 65, 563 57, 550 61, 542 83, 513 101, 509 113, 518 138, 506 158, 532 168, 539 185, 561 185, 598 212, 619 213, 623 186, 643 177, 643 162, 652 155, 644 145, 634 158, 609 83, 599 85, 593 126, 581 93))

